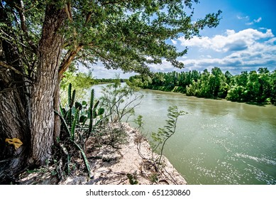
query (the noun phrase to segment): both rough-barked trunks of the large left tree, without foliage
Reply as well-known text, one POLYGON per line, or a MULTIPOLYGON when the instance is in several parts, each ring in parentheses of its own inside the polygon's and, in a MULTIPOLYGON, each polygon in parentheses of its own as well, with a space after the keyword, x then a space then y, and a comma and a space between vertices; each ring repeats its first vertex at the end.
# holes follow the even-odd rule
MULTIPOLYGON (((0 10, 1 22, 9 24, 5 18, 4 10, 0 10)), ((57 136, 60 128, 53 111, 59 107, 58 70, 65 19, 63 9, 54 4, 46 7, 36 73, 31 83, 17 74, 23 73, 18 49, 9 42, 0 43, 0 60, 16 69, 7 69, 1 62, 0 183, 11 180, 26 166, 43 165, 51 156, 54 131, 57 136), (6 138, 21 139, 23 145, 15 149, 5 143, 6 138)))

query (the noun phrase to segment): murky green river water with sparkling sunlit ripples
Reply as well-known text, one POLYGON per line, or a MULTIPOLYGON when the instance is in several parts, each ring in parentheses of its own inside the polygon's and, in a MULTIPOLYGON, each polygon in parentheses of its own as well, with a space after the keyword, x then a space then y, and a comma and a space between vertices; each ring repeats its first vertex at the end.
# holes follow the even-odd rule
POLYGON ((136 115, 143 116, 145 135, 165 125, 169 106, 188 112, 164 153, 188 184, 276 184, 275 106, 140 92, 136 115))

